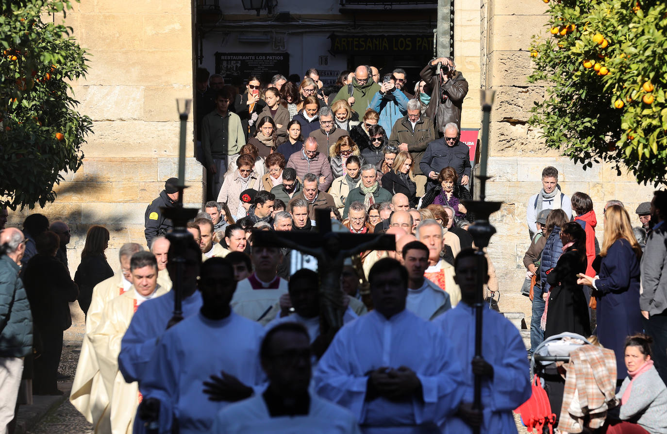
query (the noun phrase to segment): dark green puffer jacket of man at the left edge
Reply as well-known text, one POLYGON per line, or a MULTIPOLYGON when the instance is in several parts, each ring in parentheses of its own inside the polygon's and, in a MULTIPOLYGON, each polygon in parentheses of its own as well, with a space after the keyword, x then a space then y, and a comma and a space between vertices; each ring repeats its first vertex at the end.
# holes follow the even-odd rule
POLYGON ((0 257, 0 357, 25 357, 33 347, 33 317, 19 266, 0 257))

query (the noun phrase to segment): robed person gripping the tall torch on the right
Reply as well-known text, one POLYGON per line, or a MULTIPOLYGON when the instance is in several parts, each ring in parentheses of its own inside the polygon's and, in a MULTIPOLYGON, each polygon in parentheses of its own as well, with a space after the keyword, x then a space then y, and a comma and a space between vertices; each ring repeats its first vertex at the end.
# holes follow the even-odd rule
MULTIPOLYGON (((484 261, 486 265, 486 259, 484 261)), ((484 309, 482 315, 482 359, 475 355, 475 291, 478 258, 473 249, 464 249, 454 260, 461 303, 433 321, 456 348, 463 367, 463 402, 458 414, 450 417, 445 433, 472 434, 480 423, 480 433, 516 434, 512 411, 530 398, 530 369, 526 346, 516 327, 502 314, 484 309), (482 417, 472 411, 474 373, 482 380, 482 417)), ((485 267, 486 268, 486 267, 485 267)), ((484 273, 488 279, 488 273, 484 273)))

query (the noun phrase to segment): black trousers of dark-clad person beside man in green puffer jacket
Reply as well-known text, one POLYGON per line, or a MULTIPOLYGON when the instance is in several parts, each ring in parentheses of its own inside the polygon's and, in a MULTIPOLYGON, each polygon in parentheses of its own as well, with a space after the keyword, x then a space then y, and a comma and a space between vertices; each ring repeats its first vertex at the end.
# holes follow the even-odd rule
POLYGON ((41 351, 35 357, 33 371, 33 393, 50 393, 57 387, 58 365, 63 353, 63 331, 59 327, 39 329, 41 351))

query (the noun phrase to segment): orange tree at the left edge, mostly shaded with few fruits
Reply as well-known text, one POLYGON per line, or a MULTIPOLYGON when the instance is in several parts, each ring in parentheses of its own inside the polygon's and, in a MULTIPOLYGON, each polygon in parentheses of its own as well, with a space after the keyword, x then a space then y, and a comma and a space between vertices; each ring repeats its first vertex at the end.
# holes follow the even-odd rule
POLYGON ((61 171, 81 166, 91 120, 68 90, 87 59, 53 19, 69 1, 0 0, 0 9, 0 204, 43 207, 61 171))

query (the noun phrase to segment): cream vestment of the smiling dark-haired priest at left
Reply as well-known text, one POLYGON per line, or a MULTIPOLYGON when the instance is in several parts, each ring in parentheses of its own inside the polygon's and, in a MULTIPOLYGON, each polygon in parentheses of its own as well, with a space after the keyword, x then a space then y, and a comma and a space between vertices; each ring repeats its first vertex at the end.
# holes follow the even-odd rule
POLYGON ((137 382, 125 383, 118 370, 118 354, 121 351, 121 339, 125 335, 137 307, 153 297, 159 297, 167 291, 157 285, 149 297, 141 297, 134 287, 107 303, 97 329, 89 335, 97 357, 99 372, 109 397, 109 408, 105 413, 111 419, 111 433, 125 434, 132 432, 132 423, 141 401, 137 382))

